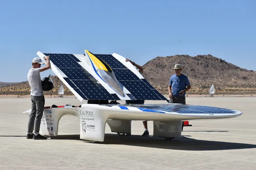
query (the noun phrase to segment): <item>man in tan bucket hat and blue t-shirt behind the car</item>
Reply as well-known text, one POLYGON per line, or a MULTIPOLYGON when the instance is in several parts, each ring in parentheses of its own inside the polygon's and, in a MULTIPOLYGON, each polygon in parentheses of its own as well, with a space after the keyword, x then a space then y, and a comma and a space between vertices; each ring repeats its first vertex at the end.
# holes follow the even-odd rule
MULTIPOLYGON (((169 103, 186 104, 186 91, 191 89, 189 79, 184 74, 181 74, 181 65, 176 64, 173 69, 175 70, 175 74, 171 76, 168 86, 170 97, 169 103)), ((182 129, 183 126, 184 122, 182 122, 182 129)))

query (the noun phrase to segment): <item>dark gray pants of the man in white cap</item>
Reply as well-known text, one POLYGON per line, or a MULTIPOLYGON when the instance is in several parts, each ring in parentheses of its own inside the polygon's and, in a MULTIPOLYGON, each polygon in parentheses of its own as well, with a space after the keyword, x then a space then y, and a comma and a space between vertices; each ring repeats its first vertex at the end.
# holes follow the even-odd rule
POLYGON ((31 104, 31 113, 28 119, 27 132, 32 133, 39 132, 41 118, 44 113, 45 108, 45 97, 43 96, 30 96, 32 104, 31 104))

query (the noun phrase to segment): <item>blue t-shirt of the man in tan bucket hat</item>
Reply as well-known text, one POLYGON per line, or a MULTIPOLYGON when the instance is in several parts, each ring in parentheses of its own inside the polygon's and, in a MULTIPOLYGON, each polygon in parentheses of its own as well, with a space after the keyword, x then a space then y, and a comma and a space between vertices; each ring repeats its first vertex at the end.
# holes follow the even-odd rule
MULTIPOLYGON (((180 76, 177 76, 176 74, 172 75, 170 78, 169 85, 172 86, 172 93, 174 96, 180 96, 179 92, 181 90, 185 90, 187 85, 190 85, 189 79, 184 74, 181 74, 180 76)), ((182 95, 185 97, 186 92, 182 95)))

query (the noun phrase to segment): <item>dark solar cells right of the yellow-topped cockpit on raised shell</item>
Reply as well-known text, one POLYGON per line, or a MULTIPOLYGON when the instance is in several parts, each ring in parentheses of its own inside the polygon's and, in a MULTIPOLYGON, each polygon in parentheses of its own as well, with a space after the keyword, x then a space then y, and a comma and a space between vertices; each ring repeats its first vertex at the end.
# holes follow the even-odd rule
POLYGON ((105 61, 115 73, 117 80, 132 94, 136 100, 166 100, 145 79, 140 79, 111 54, 94 54, 105 61))

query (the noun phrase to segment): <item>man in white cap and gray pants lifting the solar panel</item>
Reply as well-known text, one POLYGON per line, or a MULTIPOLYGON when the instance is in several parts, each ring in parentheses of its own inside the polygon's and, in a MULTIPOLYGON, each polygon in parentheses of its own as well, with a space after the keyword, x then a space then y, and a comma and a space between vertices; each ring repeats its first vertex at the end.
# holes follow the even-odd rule
POLYGON ((31 87, 30 98, 32 101, 31 113, 29 115, 27 125, 27 139, 47 139, 46 137, 39 134, 41 118, 43 116, 45 107, 45 97, 40 72, 48 70, 51 67, 49 56, 46 56, 45 60, 46 67, 41 68, 41 64, 45 63, 38 57, 34 58, 32 60, 32 68, 28 71, 27 74, 27 80, 31 87))

